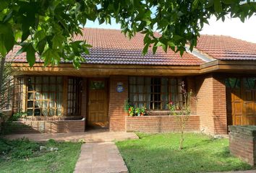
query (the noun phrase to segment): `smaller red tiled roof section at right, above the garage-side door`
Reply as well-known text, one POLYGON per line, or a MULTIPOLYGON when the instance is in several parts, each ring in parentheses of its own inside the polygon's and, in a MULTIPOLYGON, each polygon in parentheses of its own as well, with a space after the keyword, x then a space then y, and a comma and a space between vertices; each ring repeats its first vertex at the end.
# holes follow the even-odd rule
POLYGON ((256 61, 256 43, 223 35, 201 35, 197 50, 219 60, 256 61))

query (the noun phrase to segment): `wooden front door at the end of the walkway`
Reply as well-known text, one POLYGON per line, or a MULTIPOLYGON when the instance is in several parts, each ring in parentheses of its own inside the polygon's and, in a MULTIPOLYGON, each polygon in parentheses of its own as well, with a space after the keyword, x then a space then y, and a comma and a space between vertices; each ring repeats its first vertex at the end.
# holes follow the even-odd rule
POLYGON ((88 118, 90 127, 108 127, 108 84, 106 79, 90 79, 88 91, 88 118))

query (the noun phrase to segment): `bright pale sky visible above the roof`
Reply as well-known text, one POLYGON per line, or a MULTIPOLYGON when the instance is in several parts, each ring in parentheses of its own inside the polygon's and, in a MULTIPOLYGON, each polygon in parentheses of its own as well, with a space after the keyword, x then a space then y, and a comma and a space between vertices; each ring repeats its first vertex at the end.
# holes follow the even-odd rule
MULTIPOLYGON (((108 28, 108 29, 120 29, 120 25, 116 24, 114 20, 111 21, 112 25, 106 25, 103 23, 99 25, 98 22, 89 21, 85 27, 95 28, 108 28)), ((256 16, 247 19, 244 23, 239 19, 228 19, 225 22, 221 20, 216 21, 216 17, 212 17, 209 20, 210 25, 205 25, 201 34, 207 35, 228 35, 231 37, 246 40, 252 43, 256 43, 256 16)))

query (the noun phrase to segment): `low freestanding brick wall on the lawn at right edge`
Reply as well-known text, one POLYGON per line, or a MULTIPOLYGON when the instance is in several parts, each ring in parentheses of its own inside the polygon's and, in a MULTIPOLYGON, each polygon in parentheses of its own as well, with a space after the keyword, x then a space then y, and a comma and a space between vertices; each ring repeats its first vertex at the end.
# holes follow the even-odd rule
MULTIPOLYGON (((229 150, 234 156, 247 161, 252 166, 256 164, 256 137, 242 126, 229 126, 229 150)), ((255 131, 255 130, 254 130, 255 131)), ((255 131, 256 132, 256 131, 255 131)))

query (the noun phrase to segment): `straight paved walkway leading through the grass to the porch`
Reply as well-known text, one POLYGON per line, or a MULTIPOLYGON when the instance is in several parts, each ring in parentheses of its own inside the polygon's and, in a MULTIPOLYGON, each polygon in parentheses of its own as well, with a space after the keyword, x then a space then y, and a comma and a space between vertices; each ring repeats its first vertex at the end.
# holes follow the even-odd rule
POLYGON ((74 173, 128 172, 113 142, 85 143, 74 173))

